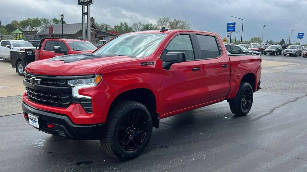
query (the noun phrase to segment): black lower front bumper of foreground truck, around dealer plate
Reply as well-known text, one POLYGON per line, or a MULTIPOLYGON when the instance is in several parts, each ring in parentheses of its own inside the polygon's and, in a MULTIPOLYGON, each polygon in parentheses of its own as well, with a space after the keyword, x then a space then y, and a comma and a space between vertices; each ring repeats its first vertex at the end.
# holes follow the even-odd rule
POLYGON ((37 116, 39 128, 36 129, 45 133, 72 140, 97 140, 103 135, 104 123, 75 125, 70 118, 63 114, 54 114, 46 110, 39 110, 25 103, 22 103, 21 107, 27 122, 29 123, 28 114, 37 116), (48 127, 50 124, 53 124, 53 127, 48 127))

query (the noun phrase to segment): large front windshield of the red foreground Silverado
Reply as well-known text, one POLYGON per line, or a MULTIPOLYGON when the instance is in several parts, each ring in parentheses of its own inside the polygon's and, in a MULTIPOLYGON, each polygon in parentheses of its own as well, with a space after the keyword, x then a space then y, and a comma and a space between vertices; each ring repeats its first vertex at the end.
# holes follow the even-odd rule
POLYGON ((165 33, 129 34, 122 35, 105 43, 95 54, 117 54, 129 57, 146 57, 153 53, 162 40, 165 33))

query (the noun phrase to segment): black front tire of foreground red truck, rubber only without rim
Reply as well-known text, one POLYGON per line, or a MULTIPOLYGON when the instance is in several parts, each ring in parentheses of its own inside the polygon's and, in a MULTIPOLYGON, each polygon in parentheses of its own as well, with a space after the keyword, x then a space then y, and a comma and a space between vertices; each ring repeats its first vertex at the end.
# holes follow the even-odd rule
POLYGON ((111 107, 107 117, 106 128, 100 142, 107 154, 121 160, 129 160, 140 155, 149 143, 152 133, 152 119, 150 111, 142 103, 135 101, 122 101, 111 107), (134 151, 126 151, 120 145, 119 128, 123 120, 132 112, 141 112, 144 118, 148 120, 147 133, 141 145, 134 151))

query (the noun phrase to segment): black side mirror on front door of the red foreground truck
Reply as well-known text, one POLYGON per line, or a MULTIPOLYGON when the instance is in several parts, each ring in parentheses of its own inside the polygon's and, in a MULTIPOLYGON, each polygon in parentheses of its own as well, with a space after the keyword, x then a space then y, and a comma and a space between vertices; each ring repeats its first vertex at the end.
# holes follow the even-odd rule
POLYGON ((168 52, 165 55, 165 62, 162 63, 163 69, 169 70, 174 63, 186 62, 185 52, 168 52))

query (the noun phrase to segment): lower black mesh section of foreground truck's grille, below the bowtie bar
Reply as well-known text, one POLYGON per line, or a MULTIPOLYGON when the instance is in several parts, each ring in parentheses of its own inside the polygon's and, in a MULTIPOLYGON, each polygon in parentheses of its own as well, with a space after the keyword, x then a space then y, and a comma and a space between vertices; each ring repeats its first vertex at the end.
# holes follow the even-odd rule
POLYGON ((26 87, 27 96, 30 100, 36 103, 47 106, 64 107, 67 108, 72 104, 71 93, 63 94, 51 91, 43 91, 26 87))

